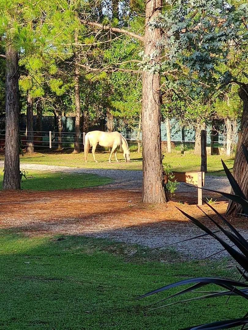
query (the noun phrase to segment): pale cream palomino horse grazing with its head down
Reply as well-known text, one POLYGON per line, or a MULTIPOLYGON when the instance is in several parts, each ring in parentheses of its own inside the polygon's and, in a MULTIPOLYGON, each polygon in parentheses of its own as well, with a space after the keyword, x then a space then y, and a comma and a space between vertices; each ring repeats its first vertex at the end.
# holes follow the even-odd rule
POLYGON ((101 132, 101 131, 92 131, 88 132, 85 135, 85 143, 84 143, 84 159, 87 162, 88 151, 92 146, 92 155, 97 162, 95 157, 95 150, 99 144, 102 147, 112 147, 110 155, 108 157, 109 163, 111 163, 111 157, 114 153, 115 160, 117 159, 117 147, 121 146, 123 150, 123 157, 126 162, 130 162, 130 151, 128 149, 127 140, 118 132, 101 132))

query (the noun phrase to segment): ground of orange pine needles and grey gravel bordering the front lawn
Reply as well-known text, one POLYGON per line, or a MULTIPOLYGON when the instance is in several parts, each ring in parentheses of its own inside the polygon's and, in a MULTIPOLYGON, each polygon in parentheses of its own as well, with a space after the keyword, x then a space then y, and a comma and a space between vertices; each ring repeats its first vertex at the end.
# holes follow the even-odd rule
MULTIPOLYGON (((196 189, 195 189, 196 190, 196 189)), ((219 196, 214 207, 224 213, 227 202, 219 196)), ((141 205, 140 190, 85 188, 56 191, 0 192, 0 228, 28 234, 80 234, 158 247, 202 234, 176 209, 209 223, 187 191, 164 206, 141 205), (187 203, 182 203, 187 201, 187 203)), ((213 214, 205 205, 207 213, 213 214)), ((247 218, 230 219, 248 237, 247 218)), ((203 258, 222 247, 209 237, 173 246, 186 258, 203 258)), ((223 254, 218 254, 218 257, 223 254)))

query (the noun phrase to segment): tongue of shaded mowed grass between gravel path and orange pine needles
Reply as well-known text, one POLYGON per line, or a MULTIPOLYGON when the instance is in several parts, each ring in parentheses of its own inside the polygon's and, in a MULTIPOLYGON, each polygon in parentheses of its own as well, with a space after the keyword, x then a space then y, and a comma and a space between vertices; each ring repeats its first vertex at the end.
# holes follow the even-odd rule
MULTIPOLYGON (((61 173, 26 170, 22 177, 21 189, 55 190, 97 186, 113 182, 112 179, 95 174, 61 173)), ((2 189, 3 169, 0 168, 0 190, 2 189)))

